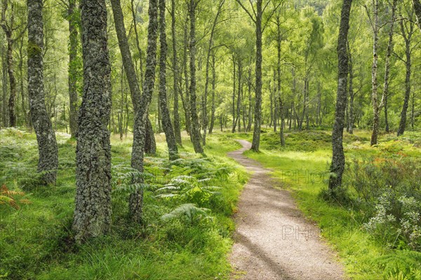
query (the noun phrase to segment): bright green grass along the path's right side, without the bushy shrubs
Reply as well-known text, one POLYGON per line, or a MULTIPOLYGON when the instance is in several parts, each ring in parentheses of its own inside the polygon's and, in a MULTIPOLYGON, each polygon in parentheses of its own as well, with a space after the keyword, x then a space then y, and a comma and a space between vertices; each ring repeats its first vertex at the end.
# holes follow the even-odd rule
MULTIPOLYGON (((370 147, 369 136, 365 131, 357 131, 354 136, 345 134, 346 157, 385 158, 395 153, 421 155, 417 146, 420 134, 408 133, 406 138, 399 139, 385 135, 376 147, 370 147)), ((278 179, 280 188, 290 190, 300 210, 319 225, 328 244, 338 251, 351 279, 382 279, 383 271, 373 260, 391 250, 363 230, 362 224, 366 222, 363 213, 349 205, 326 202, 320 196, 326 189, 331 160, 328 132, 287 132, 285 147, 279 145, 278 134, 262 134, 260 153, 247 151, 246 155, 272 169, 272 176, 278 179)))

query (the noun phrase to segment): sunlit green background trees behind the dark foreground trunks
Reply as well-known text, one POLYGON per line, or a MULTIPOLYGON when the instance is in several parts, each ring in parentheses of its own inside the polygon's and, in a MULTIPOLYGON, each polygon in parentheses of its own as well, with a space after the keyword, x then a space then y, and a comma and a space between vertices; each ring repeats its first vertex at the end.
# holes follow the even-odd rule
MULTIPOLYGON (((396 3, 395 20, 392 20, 392 3, 387 0, 364 1, 363 4, 366 4, 368 10, 357 5, 350 15, 354 24, 349 29, 347 48, 351 62, 349 82, 352 86, 348 89, 349 97, 345 111, 345 127, 349 133, 355 128, 374 127, 379 133, 399 130, 401 134, 402 127, 406 130, 419 127, 418 73, 399 71, 402 68, 410 70, 419 67, 420 48, 417 47, 421 35, 415 23, 416 1, 396 3), (377 3, 378 6, 377 106, 371 101, 376 94, 373 95, 373 83, 370 82, 371 67, 368 64, 373 58, 373 3, 377 3), (389 34, 392 34, 392 37, 389 34), (392 38, 393 42, 389 48, 392 55, 386 63, 389 38, 392 38), (386 68, 389 71, 388 77, 385 75, 386 68), (374 110, 373 106, 377 109, 374 110)), ((121 13, 125 15, 123 26, 126 30, 126 48, 130 51, 135 76, 127 75, 128 67, 123 66, 118 53, 120 49, 116 34, 121 33, 121 27, 110 20, 107 34, 112 64, 113 105, 108 127, 113 133, 125 137, 133 132, 135 120, 135 108, 130 98, 133 85, 131 79, 137 78, 139 87, 144 84, 149 19, 146 11, 149 7, 144 1, 138 0, 121 0, 120 5, 121 13)), ((48 0, 44 6, 46 110, 55 130, 75 136, 82 82, 79 2, 48 0)), ((262 127, 272 127, 273 130, 284 127, 287 133, 289 129, 328 127, 333 122, 335 99, 332 88, 335 87, 337 59, 336 42, 333 38, 338 34, 339 3, 304 5, 270 0, 253 2, 253 6, 250 6, 247 1, 225 0, 215 5, 208 1, 187 3, 173 0, 168 2, 167 6, 171 12, 166 13, 166 22, 171 22, 171 28, 166 29, 167 57, 171 59, 167 59, 166 64, 166 97, 175 139, 179 145, 181 132, 186 130, 192 139, 200 139, 203 146, 206 144, 204 131, 211 132, 215 125, 220 127, 221 124, 222 129, 229 131, 233 131, 234 125, 236 132, 239 128, 242 131, 254 130, 255 127, 256 146, 262 127), (192 5, 196 20, 194 54, 190 51, 192 25, 189 18, 192 15, 189 13, 192 13, 192 9, 189 7, 192 5), (258 5, 262 6, 259 12, 260 31, 256 29, 258 5), (258 35, 262 33, 261 67, 260 54, 258 48, 255 48, 258 43, 256 31, 258 35), (195 69, 192 69, 190 61, 194 62, 195 69), (256 70, 260 68, 261 82, 260 74, 256 76, 256 70), (192 94, 192 81, 196 83, 195 94, 192 94), (260 87, 262 106, 259 105, 260 87), (192 103, 195 103, 195 106, 192 106, 192 103), (192 122, 192 117, 196 119, 194 111, 197 121, 192 122), (284 126, 281 125, 282 119, 284 126), (256 123, 256 120, 260 121, 256 123)), ((13 115, 16 118, 15 125, 30 126, 25 67, 27 41, 24 40, 27 36, 27 23, 25 16, 22 16, 27 8, 13 0, 2 1, 1 7, 0 48, 4 50, 1 56, 0 79, 1 123, 3 126, 9 126, 13 115)), ((112 16, 111 8, 109 16, 112 16)), ((161 122, 165 115, 159 106, 158 92, 159 88, 154 87, 148 109, 148 153, 153 153, 155 149, 152 131, 162 132, 161 122)))

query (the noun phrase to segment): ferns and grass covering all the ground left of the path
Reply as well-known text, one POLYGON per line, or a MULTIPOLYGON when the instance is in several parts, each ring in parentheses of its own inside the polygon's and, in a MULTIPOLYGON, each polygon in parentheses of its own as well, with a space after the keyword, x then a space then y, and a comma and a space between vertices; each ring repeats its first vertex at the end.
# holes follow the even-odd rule
MULTIPOLYGON (((36 139, 1 130, 0 183, 25 192, 19 209, 0 204, 0 278, 6 279, 225 279, 231 219, 246 172, 223 158, 238 148, 209 137, 198 157, 185 141, 180 159, 166 160, 166 145, 147 157, 145 173, 130 168, 131 139, 112 137, 113 225, 106 237, 78 246, 72 239, 76 142, 58 135, 56 186, 40 186, 36 139), (145 176, 142 225, 127 218, 132 176, 145 176)), ((23 193, 19 193, 23 194, 23 193)))

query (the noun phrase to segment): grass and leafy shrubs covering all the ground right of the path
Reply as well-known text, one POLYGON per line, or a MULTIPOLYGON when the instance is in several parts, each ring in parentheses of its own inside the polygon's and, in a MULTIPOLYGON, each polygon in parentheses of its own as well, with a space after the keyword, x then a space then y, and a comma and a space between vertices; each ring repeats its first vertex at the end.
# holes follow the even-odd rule
MULTIPOLYGON (((344 134, 347 172, 342 200, 323 200, 331 159, 330 133, 262 134, 261 152, 248 157, 273 170, 305 216, 338 251, 351 279, 421 279, 420 133, 385 134, 370 147, 370 134, 344 134)), ((244 137, 250 138, 250 135, 244 137)))

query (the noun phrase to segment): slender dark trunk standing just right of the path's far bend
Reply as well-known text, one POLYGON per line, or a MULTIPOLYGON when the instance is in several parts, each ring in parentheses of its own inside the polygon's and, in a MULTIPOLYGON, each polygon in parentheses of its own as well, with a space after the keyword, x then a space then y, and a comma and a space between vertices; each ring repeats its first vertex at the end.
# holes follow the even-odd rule
POLYGON ((251 149, 258 152, 262 122, 262 0, 257 0, 256 13, 256 100, 253 141, 251 149))

